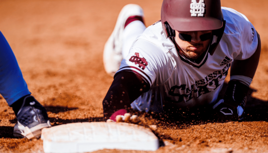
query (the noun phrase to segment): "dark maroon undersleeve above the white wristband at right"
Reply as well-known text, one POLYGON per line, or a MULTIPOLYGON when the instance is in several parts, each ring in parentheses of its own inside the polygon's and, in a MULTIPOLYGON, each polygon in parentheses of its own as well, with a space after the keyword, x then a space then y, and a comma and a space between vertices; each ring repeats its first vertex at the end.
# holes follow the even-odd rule
POLYGON ((257 33, 257 36, 259 40, 257 50, 250 58, 246 60, 234 60, 231 66, 231 73, 230 73, 231 76, 243 75, 243 76, 247 76, 253 79, 258 63, 259 63, 260 54, 261 54, 261 39, 258 33, 257 33))

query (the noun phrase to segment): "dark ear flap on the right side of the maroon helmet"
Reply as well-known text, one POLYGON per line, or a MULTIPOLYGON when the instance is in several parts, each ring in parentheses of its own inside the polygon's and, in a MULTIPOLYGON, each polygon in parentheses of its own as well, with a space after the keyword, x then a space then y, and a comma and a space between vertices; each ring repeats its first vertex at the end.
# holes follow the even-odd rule
POLYGON ((208 49, 208 52, 209 52, 210 55, 213 55, 213 53, 216 50, 219 42, 222 39, 223 32, 224 32, 224 29, 225 29, 225 23, 226 23, 226 21, 223 20, 223 26, 220 29, 212 31, 212 40, 210 42, 210 46, 209 46, 209 49, 208 49))

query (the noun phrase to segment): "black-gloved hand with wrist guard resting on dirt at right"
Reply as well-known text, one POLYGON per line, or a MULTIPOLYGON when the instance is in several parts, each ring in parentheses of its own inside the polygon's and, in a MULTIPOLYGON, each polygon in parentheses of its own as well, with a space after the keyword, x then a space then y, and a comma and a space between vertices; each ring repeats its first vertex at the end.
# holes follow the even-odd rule
POLYGON ((216 117, 223 121, 241 121, 245 114, 248 89, 239 81, 229 81, 224 98, 213 106, 216 117))

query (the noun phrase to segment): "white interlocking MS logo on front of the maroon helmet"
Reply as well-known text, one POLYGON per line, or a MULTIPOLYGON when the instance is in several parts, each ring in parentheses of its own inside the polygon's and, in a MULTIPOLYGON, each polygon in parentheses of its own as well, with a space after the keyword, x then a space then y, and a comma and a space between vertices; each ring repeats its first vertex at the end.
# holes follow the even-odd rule
POLYGON ((192 17, 203 17, 205 12, 205 3, 204 0, 199 0, 199 3, 196 2, 196 0, 192 0, 192 3, 190 4, 190 12, 192 17))

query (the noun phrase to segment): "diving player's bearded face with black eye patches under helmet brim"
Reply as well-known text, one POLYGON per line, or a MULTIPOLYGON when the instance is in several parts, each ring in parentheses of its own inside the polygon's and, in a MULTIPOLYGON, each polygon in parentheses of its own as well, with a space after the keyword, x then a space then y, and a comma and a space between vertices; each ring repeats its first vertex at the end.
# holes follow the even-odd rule
POLYGON ((197 59, 208 47, 212 31, 175 31, 175 40, 182 53, 189 59, 197 59))

